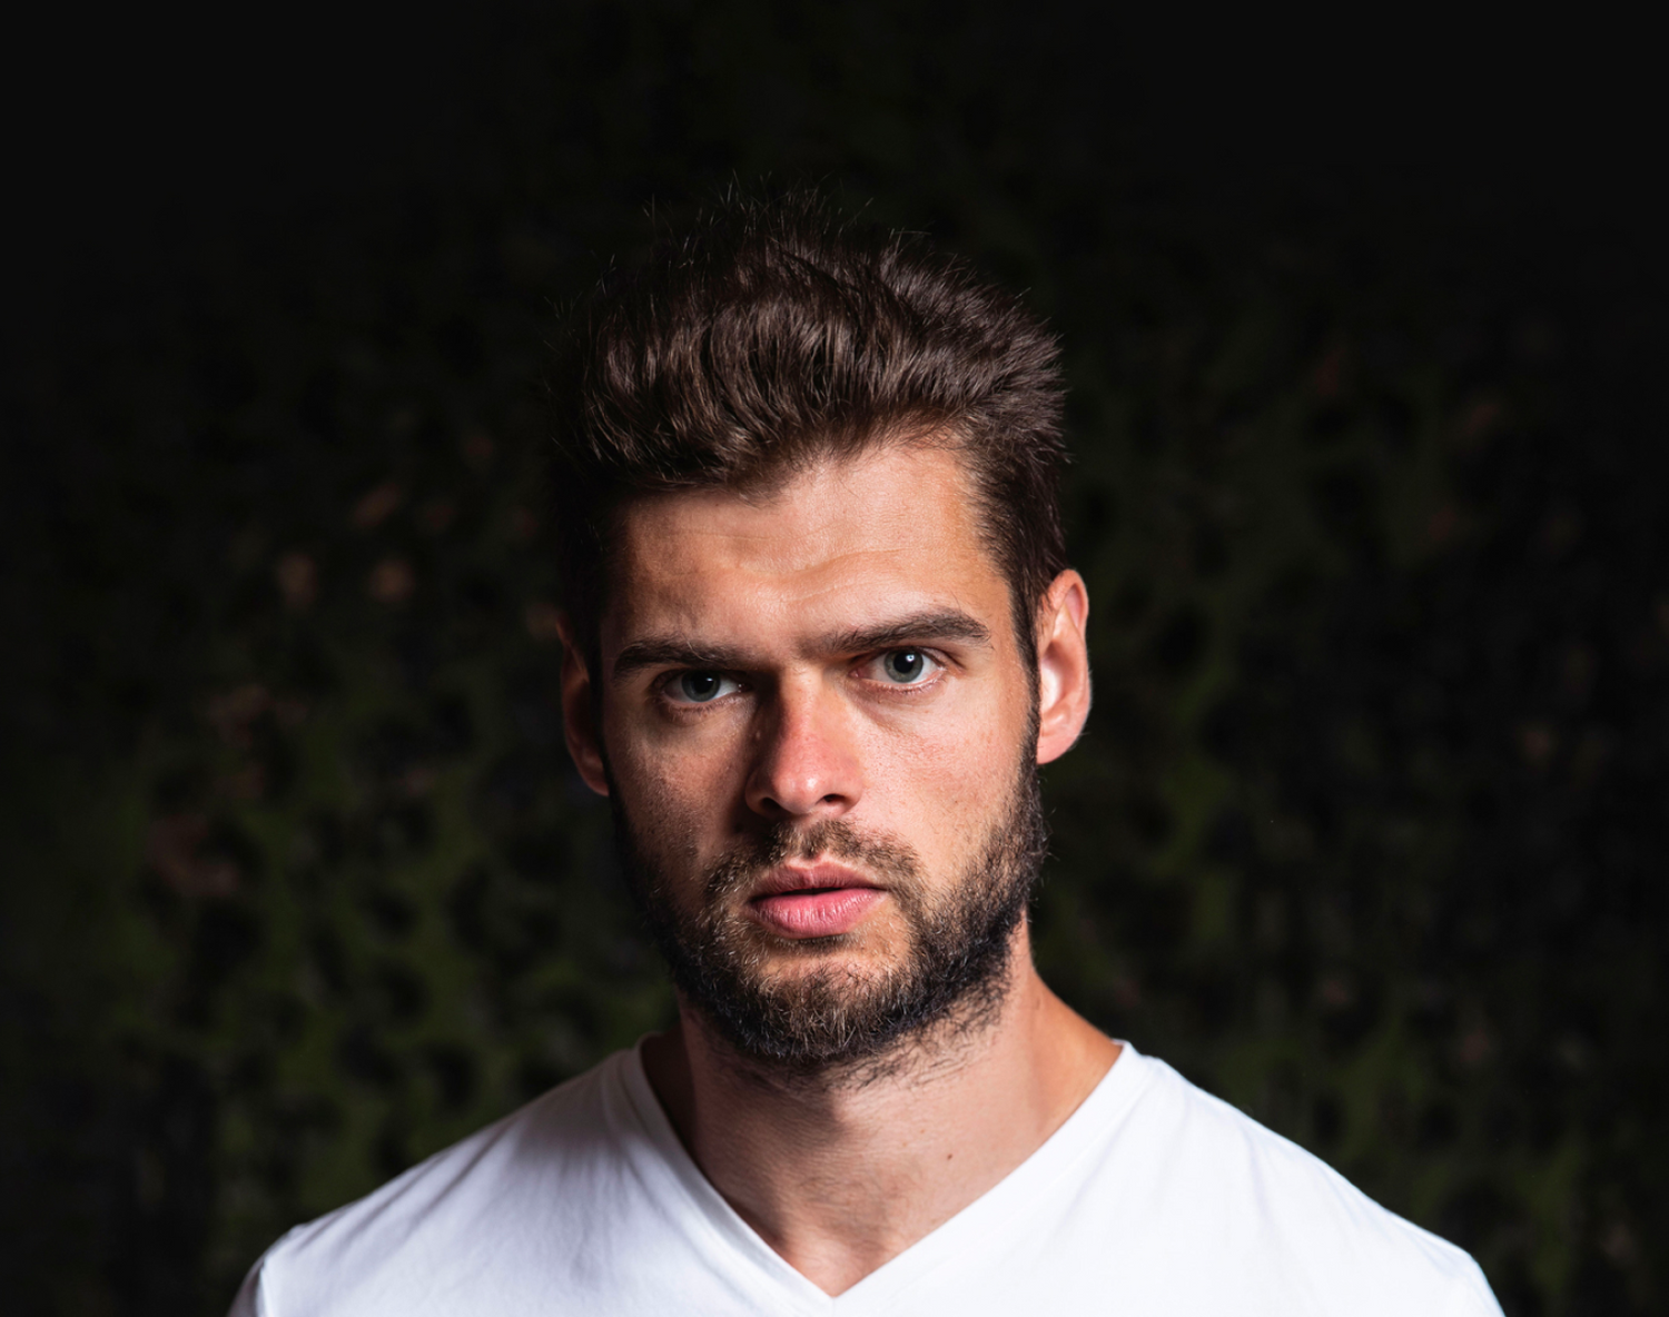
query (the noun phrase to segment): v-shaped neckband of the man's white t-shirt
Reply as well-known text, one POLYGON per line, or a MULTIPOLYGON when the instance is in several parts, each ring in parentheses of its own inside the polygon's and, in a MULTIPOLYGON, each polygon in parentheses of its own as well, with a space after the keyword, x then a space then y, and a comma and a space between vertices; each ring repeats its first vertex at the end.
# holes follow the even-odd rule
POLYGON ((774 1307, 781 1310, 788 1304, 808 1317, 861 1317, 878 1312, 946 1262, 963 1257, 980 1240, 1011 1234, 1011 1222, 1023 1220, 1040 1195, 1113 1133, 1152 1078, 1152 1063, 1130 1043, 1120 1042, 1118 1058, 1090 1095, 1025 1162, 851 1289, 829 1295, 771 1249, 696 1165, 644 1073, 643 1040, 631 1052, 621 1053, 619 1065, 611 1070, 611 1078, 624 1090, 624 1108, 651 1143, 658 1162, 673 1173, 688 1197, 694 1209, 689 1217, 699 1224, 698 1229, 711 1235, 713 1247, 729 1254, 778 1292, 774 1307))

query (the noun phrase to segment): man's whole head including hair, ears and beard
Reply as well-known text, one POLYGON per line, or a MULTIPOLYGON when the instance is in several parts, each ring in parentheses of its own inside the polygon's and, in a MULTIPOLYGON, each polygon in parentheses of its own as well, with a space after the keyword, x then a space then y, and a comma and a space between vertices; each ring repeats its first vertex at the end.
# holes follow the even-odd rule
POLYGON ((564 711, 686 1002, 818 1070, 1000 1003, 1087 601, 1035 322, 803 207, 728 224, 569 357, 564 711))

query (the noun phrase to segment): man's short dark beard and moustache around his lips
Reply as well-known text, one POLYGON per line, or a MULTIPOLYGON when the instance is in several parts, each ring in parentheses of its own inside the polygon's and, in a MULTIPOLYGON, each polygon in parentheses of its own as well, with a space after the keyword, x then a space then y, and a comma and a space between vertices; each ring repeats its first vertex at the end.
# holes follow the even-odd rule
POLYGON ((734 848, 708 875, 701 908, 679 911, 609 796, 633 898, 666 956, 673 981, 741 1060, 781 1078, 880 1073, 906 1040, 961 1033, 991 1020, 1008 990, 1010 945, 1048 850, 1036 768, 1016 775, 1008 808, 950 890, 928 895, 908 846, 870 840, 833 820, 778 826, 734 848), (908 933, 900 963, 878 975, 826 966, 773 980, 766 953, 828 955, 846 938, 769 938, 738 906, 758 876, 791 858, 829 856, 886 885, 908 933))

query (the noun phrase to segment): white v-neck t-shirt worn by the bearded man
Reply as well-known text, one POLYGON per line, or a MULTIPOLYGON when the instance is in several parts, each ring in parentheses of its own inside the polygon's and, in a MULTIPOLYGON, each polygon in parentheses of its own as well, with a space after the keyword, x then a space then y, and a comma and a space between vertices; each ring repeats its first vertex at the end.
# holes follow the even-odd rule
POLYGON ((831 1299, 673 1132, 638 1052, 300 1225, 234 1317, 1499 1317, 1477 1264, 1125 1045, 1008 1178, 831 1299))

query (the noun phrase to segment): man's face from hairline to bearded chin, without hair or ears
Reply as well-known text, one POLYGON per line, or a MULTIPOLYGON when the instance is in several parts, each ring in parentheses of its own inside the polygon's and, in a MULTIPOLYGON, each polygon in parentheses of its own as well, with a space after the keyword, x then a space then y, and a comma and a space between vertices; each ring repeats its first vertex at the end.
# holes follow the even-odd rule
POLYGON ((633 504, 599 649, 587 780, 734 1045, 829 1065, 1000 998, 1043 846, 1033 683, 953 452, 633 504))

